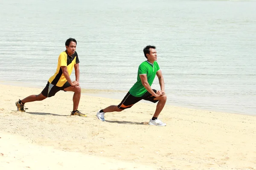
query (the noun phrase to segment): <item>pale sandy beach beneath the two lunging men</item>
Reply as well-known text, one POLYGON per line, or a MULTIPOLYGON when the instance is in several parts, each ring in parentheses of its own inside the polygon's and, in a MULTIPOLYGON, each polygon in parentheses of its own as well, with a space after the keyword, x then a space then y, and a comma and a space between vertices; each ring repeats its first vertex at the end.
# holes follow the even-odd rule
POLYGON ((256 116, 166 105, 148 125, 155 104, 139 102, 120 113, 96 112, 120 100, 82 95, 70 116, 73 94, 59 92, 43 101, 15 102, 41 88, 0 85, 0 169, 205 170, 256 168, 256 116))

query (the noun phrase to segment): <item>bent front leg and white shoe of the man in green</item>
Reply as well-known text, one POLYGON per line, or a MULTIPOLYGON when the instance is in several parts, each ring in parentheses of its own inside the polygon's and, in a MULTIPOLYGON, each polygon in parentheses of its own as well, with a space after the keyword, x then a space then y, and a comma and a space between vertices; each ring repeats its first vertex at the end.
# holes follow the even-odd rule
POLYGON ((164 105, 166 104, 166 99, 167 99, 166 95, 162 95, 154 99, 159 101, 157 103, 157 108, 154 113, 154 116, 152 117, 152 119, 149 120, 149 123, 148 123, 149 125, 166 126, 166 123, 163 123, 162 121, 157 119, 160 112, 163 110, 164 105))

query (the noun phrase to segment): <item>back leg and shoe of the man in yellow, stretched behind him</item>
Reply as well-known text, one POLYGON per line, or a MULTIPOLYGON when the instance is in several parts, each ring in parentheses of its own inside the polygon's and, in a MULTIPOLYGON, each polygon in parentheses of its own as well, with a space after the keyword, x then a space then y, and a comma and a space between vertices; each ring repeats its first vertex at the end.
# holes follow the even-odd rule
POLYGON ((35 101, 41 101, 46 99, 47 97, 44 96, 42 93, 38 95, 30 95, 22 100, 18 100, 15 105, 17 106, 17 111, 25 112, 24 105, 26 102, 35 102, 35 101))

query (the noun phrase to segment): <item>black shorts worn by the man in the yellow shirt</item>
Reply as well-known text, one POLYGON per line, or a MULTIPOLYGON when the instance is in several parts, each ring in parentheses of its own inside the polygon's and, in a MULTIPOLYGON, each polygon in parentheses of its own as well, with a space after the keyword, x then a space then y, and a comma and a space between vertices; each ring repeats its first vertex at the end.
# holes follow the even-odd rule
POLYGON ((66 82, 62 87, 58 87, 56 85, 52 85, 51 83, 47 82, 44 90, 41 92, 46 97, 54 96, 58 91, 64 91, 64 88, 70 87, 70 83, 66 82))

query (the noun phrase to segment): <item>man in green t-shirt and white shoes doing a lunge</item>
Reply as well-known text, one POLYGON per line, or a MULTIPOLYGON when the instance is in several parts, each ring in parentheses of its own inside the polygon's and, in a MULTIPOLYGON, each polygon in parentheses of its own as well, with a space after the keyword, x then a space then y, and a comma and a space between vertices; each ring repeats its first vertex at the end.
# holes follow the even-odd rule
POLYGON ((166 103, 166 94, 164 92, 163 75, 159 68, 157 60, 156 47, 148 45, 143 49, 144 55, 147 58, 146 61, 140 64, 138 69, 137 82, 132 86, 130 91, 126 94, 124 99, 119 105, 111 105, 105 109, 99 110, 96 114, 99 120, 105 121, 104 115, 107 112, 123 111, 124 109, 131 108, 135 103, 140 100, 148 100, 151 102, 158 102, 157 108, 152 119, 149 120, 149 125, 166 126, 165 123, 157 119, 160 112, 166 103), (151 88, 155 76, 157 75, 160 91, 156 91, 151 88))

